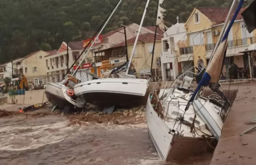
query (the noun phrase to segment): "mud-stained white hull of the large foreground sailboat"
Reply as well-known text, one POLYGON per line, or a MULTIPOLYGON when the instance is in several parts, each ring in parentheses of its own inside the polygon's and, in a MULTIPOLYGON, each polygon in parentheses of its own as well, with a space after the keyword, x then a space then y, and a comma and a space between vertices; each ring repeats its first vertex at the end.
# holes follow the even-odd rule
POLYGON ((146 104, 146 122, 150 138, 158 154, 165 161, 183 160, 206 151, 212 151, 213 148, 209 144, 216 145, 215 138, 173 136, 169 133, 169 127, 154 111, 149 98, 146 104))

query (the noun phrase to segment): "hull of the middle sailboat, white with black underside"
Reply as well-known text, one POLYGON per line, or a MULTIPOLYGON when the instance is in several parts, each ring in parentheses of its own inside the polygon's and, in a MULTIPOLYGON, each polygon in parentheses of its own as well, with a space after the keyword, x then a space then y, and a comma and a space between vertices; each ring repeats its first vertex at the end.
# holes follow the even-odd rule
POLYGON ((91 104, 137 104, 145 99, 148 84, 145 79, 104 78, 79 83, 74 92, 79 99, 91 104))

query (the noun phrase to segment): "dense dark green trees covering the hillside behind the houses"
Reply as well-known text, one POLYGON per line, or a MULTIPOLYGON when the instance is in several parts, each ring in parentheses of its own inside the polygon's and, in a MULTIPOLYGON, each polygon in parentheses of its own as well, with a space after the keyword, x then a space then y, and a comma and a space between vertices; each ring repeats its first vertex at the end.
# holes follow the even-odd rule
MULTIPOLYGON (((91 37, 117 0, 0 0, 0 63, 39 49, 57 49, 62 41, 91 37)), ((143 26, 154 26, 157 0, 151 0, 143 26)), ((196 6, 227 6, 228 0, 165 0, 165 21, 185 21, 196 6)), ((146 0, 123 0, 104 32, 140 23, 146 0)))

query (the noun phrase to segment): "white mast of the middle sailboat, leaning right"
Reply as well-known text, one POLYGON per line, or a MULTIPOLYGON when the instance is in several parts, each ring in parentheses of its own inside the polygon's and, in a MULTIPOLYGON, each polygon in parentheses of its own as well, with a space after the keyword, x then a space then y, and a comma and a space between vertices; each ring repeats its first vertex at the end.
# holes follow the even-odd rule
POLYGON ((137 45, 137 42, 138 42, 138 39, 139 39, 140 30, 142 28, 142 24, 143 24, 145 16, 146 16, 146 12, 147 12, 147 9, 148 9, 149 1, 150 0, 147 0, 146 6, 145 6, 145 9, 144 9, 144 13, 142 15, 142 19, 140 21, 140 27, 139 27, 139 30, 137 32, 137 36, 136 36, 136 39, 135 39, 135 42, 134 42, 134 45, 133 45, 133 50, 131 51, 131 57, 130 57, 130 60, 128 62, 128 66, 127 66, 126 73, 125 73, 126 76, 132 77, 132 78, 136 78, 136 77, 134 75, 129 75, 128 72, 129 72, 129 69, 130 69, 130 66, 131 66, 131 60, 133 59, 133 54, 134 54, 134 51, 135 51, 135 48, 136 48, 136 45, 137 45))

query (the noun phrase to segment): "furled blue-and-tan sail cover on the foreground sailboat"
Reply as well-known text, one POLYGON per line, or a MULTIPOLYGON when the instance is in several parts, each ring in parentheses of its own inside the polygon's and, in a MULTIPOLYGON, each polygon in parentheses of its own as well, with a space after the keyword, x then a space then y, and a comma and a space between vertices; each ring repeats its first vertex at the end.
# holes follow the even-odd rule
POLYGON ((198 91, 200 90, 200 88, 202 86, 207 87, 209 83, 218 83, 220 75, 221 75, 221 70, 222 70, 222 64, 224 61, 224 57, 226 56, 226 48, 227 48, 227 37, 229 35, 229 31, 231 29, 231 27, 233 26, 233 23, 242 7, 244 3, 244 0, 240 0, 238 7, 236 8, 236 11, 230 21, 230 24, 227 28, 227 30, 224 33, 224 36, 221 40, 221 43, 219 44, 215 54, 213 54, 212 60, 210 61, 206 72, 204 73, 200 83, 198 84, 195 92, 193 93, 193 95, 191 96, 191 98, 189 99, 189 103, 192 102, 195 98, 195 96, 197 95, 198 91))

